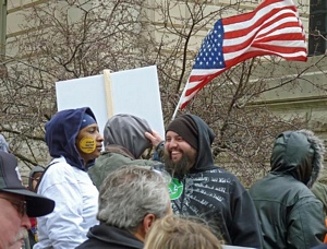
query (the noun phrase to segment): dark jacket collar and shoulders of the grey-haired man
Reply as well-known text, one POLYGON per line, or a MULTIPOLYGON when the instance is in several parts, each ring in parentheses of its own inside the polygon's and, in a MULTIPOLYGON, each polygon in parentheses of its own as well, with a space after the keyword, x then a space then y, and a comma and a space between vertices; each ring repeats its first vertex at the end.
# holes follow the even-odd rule
POLYGON ((87 237, 88 239, 76 249, 142 249, 144 246, 131 233, 106 224, 92 227, 87 237))

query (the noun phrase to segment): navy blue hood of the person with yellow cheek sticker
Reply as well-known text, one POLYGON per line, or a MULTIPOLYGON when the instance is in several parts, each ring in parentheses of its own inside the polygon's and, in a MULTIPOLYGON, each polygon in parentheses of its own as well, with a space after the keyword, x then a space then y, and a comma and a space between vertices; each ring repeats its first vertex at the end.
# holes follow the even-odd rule
MULTIPOLYGON (((46 123, 46 143, 52 157, 64 156, 65 161, 77 168, 85 170, 84 159, 80 156, 75 145, 75 139, 81 130, 84 114, 88 114, 96 120, 88 107, 65 109, 58 111, 46 123)), ((86 168, 94 165, 95 159, 89 161, 86 168)))

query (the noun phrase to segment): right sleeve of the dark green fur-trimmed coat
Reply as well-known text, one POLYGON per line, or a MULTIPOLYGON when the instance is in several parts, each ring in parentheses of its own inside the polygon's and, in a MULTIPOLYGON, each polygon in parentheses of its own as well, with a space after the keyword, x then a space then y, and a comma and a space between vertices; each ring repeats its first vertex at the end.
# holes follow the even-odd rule
POLYGON ((312 198, 296 202, 288 218, 288 245, 311 248, 324 241, 326 235, 323 204, 312 198))

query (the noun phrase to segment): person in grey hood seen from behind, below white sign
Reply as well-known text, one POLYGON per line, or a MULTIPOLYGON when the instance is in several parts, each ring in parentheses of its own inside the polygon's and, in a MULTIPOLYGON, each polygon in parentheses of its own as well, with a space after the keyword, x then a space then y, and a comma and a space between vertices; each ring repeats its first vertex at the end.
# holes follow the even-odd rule
POLYGON ((145 119, 128 114, 118 114, 108 119, 105 130, 105 152, 96 159, 88 174, 99 189, 111 171, 124 165, 154 166, 158 162, 142 159, 146 149, 152 146, 145 138, 152 129, 145 119))

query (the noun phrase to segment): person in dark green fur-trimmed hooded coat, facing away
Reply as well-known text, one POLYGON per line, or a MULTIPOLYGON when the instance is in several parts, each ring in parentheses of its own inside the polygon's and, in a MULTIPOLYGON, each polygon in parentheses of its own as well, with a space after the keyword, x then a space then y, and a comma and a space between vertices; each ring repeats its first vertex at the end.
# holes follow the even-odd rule
POLYGON ((323 204, 310 188, 323 167, 324 143, 312 131, 286 131, 275 141, 270 173, 250 189, 264 248, 311 248, 326 234, 323 204))

